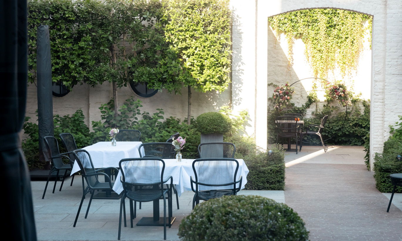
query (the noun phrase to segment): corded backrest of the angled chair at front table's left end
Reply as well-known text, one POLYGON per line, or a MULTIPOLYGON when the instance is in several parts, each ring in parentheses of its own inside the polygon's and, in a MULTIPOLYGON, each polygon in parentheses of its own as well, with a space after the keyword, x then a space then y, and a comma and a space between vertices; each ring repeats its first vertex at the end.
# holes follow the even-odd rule
POLYGON ((78 166, 81 169, 81 174, 84 176, 88 186, 94 186, 99 182, 98 176, 88 176, 90 174, 95 173, 94 164, 92 163, 91 156, 89 155, 88 151, 84 149, 78 149, 73 151, 74 157, 78 166))

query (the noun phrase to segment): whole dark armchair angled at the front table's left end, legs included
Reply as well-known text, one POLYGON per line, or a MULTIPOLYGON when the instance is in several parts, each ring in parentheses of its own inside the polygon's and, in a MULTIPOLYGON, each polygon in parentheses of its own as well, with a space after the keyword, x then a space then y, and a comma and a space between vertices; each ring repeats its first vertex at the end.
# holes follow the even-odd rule
MULTIPOLYGON (((82 194, 80 207, 78 208, 77 216, 74 221, 73 227, 75 227, 77 220, 78 220, 78 215, 80 214, 80 211, 81 211, 82 202, 84 202, 84 198, 85 198, 86 194, 88 194, 90 192, 91 198, 89 199, 85 218, 88 216, 89 207, 91 206, 92 198, 94 197, 94 193, 96 190, 109 190, 111 192, 113 191, 113 189, 112 189, 113 185, 110 180, 110 177, 103 171, 114 170, 114 171, 118 172, 118 170, 115 167, 105 167, 105 168, 95 170, 94 164, 92 163, 91 156, 89 155, 88 151, 86 151, 86 150, 78 149, 78 150, 73 151, 73 154, 76 159, 76 162, 80 166, 81 174, 82 174, 82 176, 84 176, 84 179, 87 184, 87 186, 84 190, 84 193, 82 194), (100 182, 98 176, 104 176, 105 182, 100 182)), ((100 198, 98 198, 98 199, 100 199, 100 198)), ((110 199, 110 198, 102 198, 102 199, 110 199)))

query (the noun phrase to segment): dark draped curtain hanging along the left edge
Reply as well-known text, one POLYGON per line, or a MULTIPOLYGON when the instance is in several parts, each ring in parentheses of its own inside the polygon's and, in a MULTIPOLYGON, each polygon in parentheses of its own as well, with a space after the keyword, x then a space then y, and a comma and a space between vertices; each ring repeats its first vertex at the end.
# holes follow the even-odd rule
POLYGON ((27 0, 0 1, 0 183, 2 230, 12 240, 37 240, 31 183, 18 133, 27 98, 27 0))

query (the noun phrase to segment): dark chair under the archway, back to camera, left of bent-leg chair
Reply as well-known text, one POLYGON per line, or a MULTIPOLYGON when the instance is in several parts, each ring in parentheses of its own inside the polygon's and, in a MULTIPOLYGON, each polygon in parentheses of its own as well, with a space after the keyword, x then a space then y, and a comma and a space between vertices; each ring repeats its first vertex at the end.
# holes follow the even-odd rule
MULTIPOLYGON (((300 127, 297 124, 297 118, 296 116, 277 116, 275 120, 275 124, 277 126, 278 134, 277 134, 277 141, 276 143, 278 144, 279 137, 287 138, 288 139, 288 151, 291 151, 290 149, 290 139, 295 138, 296 139, 296 154, 297 154, 297 141, 298 137, 300 137, 300 127)), ((282 144, 283 145, 283 144, 282 144)))

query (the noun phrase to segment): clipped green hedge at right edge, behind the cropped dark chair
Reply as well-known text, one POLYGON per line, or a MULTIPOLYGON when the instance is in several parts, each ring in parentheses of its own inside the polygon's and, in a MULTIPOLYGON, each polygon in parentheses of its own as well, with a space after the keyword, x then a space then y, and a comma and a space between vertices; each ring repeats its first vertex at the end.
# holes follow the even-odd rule
MULTIPOLYGON (((392 192, 390 174, 402 173, 402 161, 398 161, 396 155, 402 155, 402 140, 390 139, 384 142, 382 153, 375 153, 374 179, 380 192, 392 192)), ((402 192, 402 187, 397 186, 395 192, 402 192)))

